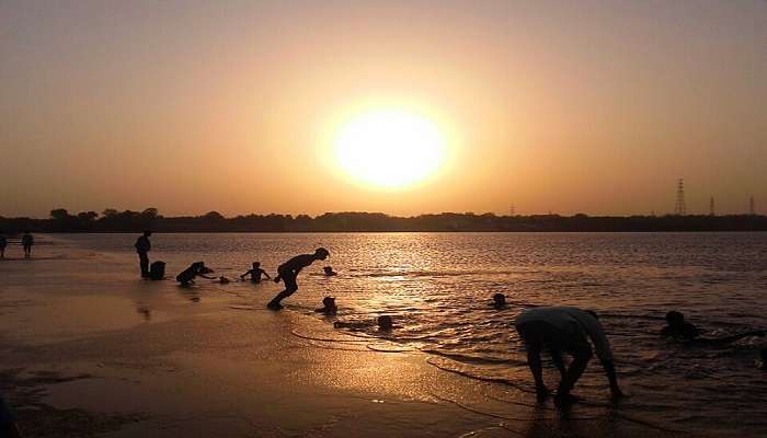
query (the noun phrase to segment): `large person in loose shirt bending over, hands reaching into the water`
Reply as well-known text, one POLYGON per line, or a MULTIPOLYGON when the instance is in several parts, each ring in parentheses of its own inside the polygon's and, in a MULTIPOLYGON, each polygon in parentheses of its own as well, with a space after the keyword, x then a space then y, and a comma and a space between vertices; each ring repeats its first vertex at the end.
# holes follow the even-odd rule
POLYGON ((565 405, 577 401, 570 394, 592 358, 594 344, 597 357, 602 360, 610 383, 613 399, 622 395, 613 364, 613 351, 605 330, 596 313, 571 307, 540 307, 522 312, 515 321, 516 330, 527 347, 527 365, 536 383, 538 400, 543 401, 549 390, 543 384, 543 370, 540 353, 548 348, 551 358, 562 377, 554 397, 554 404, 565 405), (573 357, 570 368, 565 368, 562 353, 573 357))

